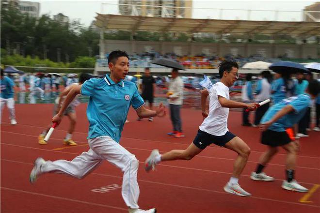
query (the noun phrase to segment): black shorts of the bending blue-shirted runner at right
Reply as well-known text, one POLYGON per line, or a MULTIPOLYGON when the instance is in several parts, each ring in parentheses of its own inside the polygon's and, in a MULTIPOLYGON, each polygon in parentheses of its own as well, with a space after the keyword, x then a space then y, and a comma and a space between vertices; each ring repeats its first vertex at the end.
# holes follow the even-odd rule
POLYGON ((290 143, 291 141, 292 140, 290 139, 286 131, 276 132, 268 129, 261 134, 261 143, 267 146, 283 146, 290 143))

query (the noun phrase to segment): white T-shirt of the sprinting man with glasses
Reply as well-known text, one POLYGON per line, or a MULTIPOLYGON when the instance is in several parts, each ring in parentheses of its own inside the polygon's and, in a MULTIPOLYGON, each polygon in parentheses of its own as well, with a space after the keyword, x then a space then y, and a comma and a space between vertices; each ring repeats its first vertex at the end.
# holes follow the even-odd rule
POLYGON ((229 131, 227 124, 229 108, 221 106, 218 96, 222 96, 230 100, 229 88, 222 82, 217 82, 208 90, 208 92, 209 114, 199 126, 199 129, 214 136, 223 136, 227 131, 229 131))

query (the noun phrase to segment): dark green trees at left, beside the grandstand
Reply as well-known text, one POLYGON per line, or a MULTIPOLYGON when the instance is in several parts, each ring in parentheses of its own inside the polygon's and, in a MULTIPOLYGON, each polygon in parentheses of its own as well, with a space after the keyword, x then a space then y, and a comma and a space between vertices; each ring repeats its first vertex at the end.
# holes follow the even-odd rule
POLYGON ((99 34, 84 28, 79 21, 61 23, 49 15, 36 19, 15 8, 1 8, 0 42, 8 55, 29 55, 50 61, 72 62, 99 52, 99 34))

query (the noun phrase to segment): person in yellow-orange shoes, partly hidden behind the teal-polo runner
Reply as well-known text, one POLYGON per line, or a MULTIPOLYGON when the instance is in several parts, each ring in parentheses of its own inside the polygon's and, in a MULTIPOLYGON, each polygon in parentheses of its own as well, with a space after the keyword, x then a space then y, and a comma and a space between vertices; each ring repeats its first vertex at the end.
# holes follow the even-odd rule
MULTIPOLYGON (((60 93, 60 95, 56 98, 55 100, 55 105, 54 105, 54 110, 53 110, 53 115, 56 115, 61 106, 62 103, 64 102, 64 99, 66 97, 66 95, 76 86, 83 84, 86 80, 89 80, 91 78, 91 76, 89 74, 84 74, 82 73, 79 77, 79 83, 74 83, 69 85, 68 87, 66 87, 64 89, 64 91, 62 91, 60 93)), ((64 115, 68 116, 69 120, 70 120, 70 126, 68 129, 68 132, 66 134, 66 136, 64 137, 64 145, 69 145, 69 146, 75 146, 77 145, 77 143, 75 141, 72 140, 72 134, 75 130, 76 127, 76 123, 77 123, 77 114, 75 111, 75 108, 77 106, 79 106, 80 101, 78 100, 78 97, 80 96, 80 94, 69 104, 69 106, 65 109, 64 111, 64 115)), ((47 145, 47 142, 45 141, 45 137, 50 129, 52 124, 49 124, 47 126, 47 128, 45 130, 43 130, 43 132, 39 135, 38 139, 38 143, 41 145, 47 145)))

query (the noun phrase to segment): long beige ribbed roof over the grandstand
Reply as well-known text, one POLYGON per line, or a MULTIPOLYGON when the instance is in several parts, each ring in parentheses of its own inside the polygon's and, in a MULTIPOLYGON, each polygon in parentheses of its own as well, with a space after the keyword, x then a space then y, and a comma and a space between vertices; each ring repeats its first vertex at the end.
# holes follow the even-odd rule
POLYGON ((217 20, 97 13, 95 24, 104 30, 320 35, 320 22, 303 21, 217 20))

